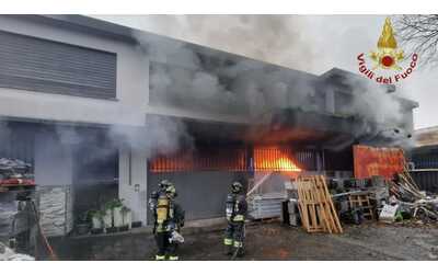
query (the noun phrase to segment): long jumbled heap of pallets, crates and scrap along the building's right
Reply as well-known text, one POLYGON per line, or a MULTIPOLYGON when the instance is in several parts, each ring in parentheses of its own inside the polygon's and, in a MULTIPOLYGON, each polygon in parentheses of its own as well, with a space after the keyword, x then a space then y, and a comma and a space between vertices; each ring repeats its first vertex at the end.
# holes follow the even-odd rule
MULTIPOLYGON (((336 218, 343 224, 354 225, 367 220, 403 221, 415 225, 438 224, 438 196, 426 195, 420 191, 407 170, 395 174, 392 180, 382 176, 364 180, 331 179, 318 186, 313 185, 314 181, 325 183, 325 178, 299 178, 295 182, 298 186, 299 217, 303 228, 309 232, 330 232, 324 222, 333 219, 332 224, 336 225, 336 218), (325 205, 321 202, 324 197, 322 191, 324 185, 327 193, 330 192, 327 198, 330 197, 335 208, 331 215, 327 214, 330 207, 326 207, 330 201, 326 199, 325 205)), ((288 203, 293 201, 297 199, 289 198, 288 203)), ((287 218, 290 219, 290 216, 285 217, 287 218)), ((292 225, 290 220, 287 224, 292 225)))

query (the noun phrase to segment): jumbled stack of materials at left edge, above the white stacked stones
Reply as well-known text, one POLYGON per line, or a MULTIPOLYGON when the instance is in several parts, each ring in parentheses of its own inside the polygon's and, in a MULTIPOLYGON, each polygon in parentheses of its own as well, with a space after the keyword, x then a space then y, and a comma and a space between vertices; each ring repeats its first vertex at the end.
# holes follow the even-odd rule
POLYGON ((19 159, 0 158, 0 186, 34 184, 32 164, 19 159))

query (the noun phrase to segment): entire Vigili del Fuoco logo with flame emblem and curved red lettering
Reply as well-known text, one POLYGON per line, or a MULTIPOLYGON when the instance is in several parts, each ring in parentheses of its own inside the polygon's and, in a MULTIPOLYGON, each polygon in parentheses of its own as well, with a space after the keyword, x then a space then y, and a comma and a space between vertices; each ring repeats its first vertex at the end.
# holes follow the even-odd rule
POLYGON ((390 18, 384 21, 382 33, 377 43, 377 50, 371 50, 369 55, 359 54, 357 56, 359 72, 370 80, 384 84, 392 84, 407 78, 414 71, 418 55, 413 54, 408 67, 403 68, 402 64, 407 60, 404 52, 397 46, 390 18), (366 57, 373 62, 371 69, 367 67, 366 57), (391 75, 390 71, 396 72, 391 75), (377 75, 379 72, 380 76, 377 75))

